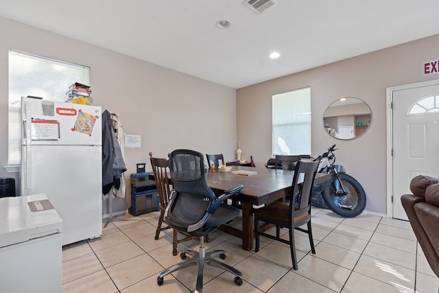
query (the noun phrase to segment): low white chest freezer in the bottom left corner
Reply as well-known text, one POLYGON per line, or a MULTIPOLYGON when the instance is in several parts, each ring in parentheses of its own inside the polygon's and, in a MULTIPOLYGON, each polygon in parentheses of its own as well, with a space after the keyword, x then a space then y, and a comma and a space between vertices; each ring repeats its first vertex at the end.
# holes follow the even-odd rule
POLYGON ((62 220, 45 194, 0 198, 1 292, 62 291, 62 220))

